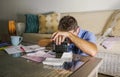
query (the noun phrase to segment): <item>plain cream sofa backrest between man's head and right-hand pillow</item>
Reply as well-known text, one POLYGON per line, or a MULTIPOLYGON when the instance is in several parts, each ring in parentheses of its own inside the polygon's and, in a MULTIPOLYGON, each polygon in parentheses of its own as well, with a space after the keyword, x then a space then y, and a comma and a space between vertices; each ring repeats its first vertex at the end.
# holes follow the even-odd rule
POLYGON ((63 13, 62 16, 74 16, 81 28, 100 34, 113 11, 63 13))

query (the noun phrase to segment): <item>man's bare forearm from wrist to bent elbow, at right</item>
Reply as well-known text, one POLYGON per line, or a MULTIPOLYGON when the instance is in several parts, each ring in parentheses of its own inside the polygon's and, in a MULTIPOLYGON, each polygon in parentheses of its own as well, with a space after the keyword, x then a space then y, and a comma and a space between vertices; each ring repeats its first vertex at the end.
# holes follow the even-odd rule
POLYGON ((97 53, 97 46, 89 41, 79 38, 78 36, 68 32, 68 38, 84 53, 95 56, 97 53))

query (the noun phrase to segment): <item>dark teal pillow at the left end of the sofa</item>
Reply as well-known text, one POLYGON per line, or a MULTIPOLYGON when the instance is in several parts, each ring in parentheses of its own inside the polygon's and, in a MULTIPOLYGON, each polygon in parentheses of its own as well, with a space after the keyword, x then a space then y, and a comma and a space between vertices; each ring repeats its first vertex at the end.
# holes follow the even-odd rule
POLYGON ((38 16, 34 14, 26 14, 26 29, 25 33, 38 33, 39 22, 38 16))

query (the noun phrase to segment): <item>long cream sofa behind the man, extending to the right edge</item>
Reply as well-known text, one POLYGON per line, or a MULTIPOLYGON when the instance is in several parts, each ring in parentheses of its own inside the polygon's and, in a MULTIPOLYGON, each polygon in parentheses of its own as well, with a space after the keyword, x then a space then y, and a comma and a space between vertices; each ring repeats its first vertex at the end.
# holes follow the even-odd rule
MULTIPOLYGON (((74 16, 81 28, 91 31, 96 35, 96 44, 98 47, 98 54, 96 57, 103 58, 103 64, 99 69, 99 73, 111 76, 120 76, 119 13, 120 10, 106 10, 60 13, 58 16, 59 19, 65 15, 74 16)), ((53 32, 54 31, 56 30, 53 30, 53 32)), ((51 38, 53 32, 23 33, 23 41, 37 44, 42 38, 51 38)))

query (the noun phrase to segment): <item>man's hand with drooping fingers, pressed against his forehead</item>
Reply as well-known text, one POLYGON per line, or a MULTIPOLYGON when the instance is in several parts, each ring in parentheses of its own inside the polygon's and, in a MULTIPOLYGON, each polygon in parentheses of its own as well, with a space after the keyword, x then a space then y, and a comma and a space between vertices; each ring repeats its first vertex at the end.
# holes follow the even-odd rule
POLYGON ((58 31, 53 33, 52 40, 55 41, 56 45, 60 45, 68 36, 69 32, 58 31))

